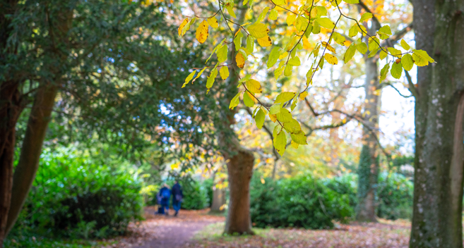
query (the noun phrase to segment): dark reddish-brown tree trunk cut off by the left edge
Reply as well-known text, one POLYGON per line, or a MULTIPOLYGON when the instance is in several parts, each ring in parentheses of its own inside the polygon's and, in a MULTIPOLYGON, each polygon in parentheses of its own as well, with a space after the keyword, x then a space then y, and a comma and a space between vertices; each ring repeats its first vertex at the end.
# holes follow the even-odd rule
POLYGON ((13 154, 15 149, 16 122, 23 110, 19 83, 1 82, 0 85, 0 247, 6 237, 6 221, 13 185, 13 154))

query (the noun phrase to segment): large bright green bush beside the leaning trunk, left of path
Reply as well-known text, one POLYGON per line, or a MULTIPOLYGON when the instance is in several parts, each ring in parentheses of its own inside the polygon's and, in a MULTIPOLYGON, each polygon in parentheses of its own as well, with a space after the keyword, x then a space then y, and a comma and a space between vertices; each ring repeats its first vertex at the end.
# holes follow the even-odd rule
POLYGON ((42 235, 106 237, 142 219, 142 182, 72 149, 44 150, 16 229, 42 235))

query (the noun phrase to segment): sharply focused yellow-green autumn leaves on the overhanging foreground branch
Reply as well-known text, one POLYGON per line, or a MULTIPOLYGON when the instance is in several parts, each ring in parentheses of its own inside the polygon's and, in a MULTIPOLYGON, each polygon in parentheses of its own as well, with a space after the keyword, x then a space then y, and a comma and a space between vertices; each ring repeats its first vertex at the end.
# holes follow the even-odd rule
POLYGON ((232 68, 232 73, 239 77, 237 87, 240 90, 230 101, 230 109, 234 109, 239 105, 242 95, 245 106, 254 107, 257 105, 253 111, 253 117, 258 128, 263 127, 266 116, 277 124, 273 130, 273 145, 280 155, 284 153, 288 144, 292 144, 292 147, 295 148, 300 144, 307 144, 307 135, 301 129, 298 121, 293 118, 292 111, 299 99, 307 97, 307 89, 312 85, 314 75, 323 68, 324 62, 326 61, 332 65, 338 64, 338 58, 335 55, 344 54, 343 62, 348 63, 356 53, 365 54, 368 58, 380 53, 381 60, 386 60, 386 65, 380 72, 381 81, 386 78, 388 72, 393 77, 400 78, 403 70, 411 70, 414 64, 427 66, 429 63, 434 63, 434 59, 427 52, 411 49, 410 45, 404 40, 400 43, 403 50, 381 46, 381 39, 388 39, 392 35, 391 28, 388 25, 380 27, 375 35, 369 35, 362 23, 373 18, 372 13, 363 13, 359 19, 351 18, 345 13, 348 4, 359 4, 359 0, 307 0, 306 3, 302 3, 303 1, 295 1, 290 6, 287 0, 269 0, 265 1, 268 6, 254 13, 254 0, 239 1, 237 5, 248 5, 251 14, 258 16, 255 23, 242 24, 239 23, 239 18, 237 18, 234 10, 239 11, 239 8, 244 7, 237 6, 233 0, 218 1, 218 11, 212 16, 187 17, 182 21, 178 30, 179 35, 182 37, 190 30, 192 25, 195 25, 197 19, 202 20, 196 28, 196 39, 200 43, 208 40, 208 32, 210 31, 208 26, 213 27, 213 32, 214 28, 218 29, 220 26, 225 30, 230 30, 230 36, 224 37, 211 54, 211 56, 214 53, 217 55, 217 63, 213 66, 195 68, 199 72, 193 70, 182 87, 188 85, 189 82, 193 83, 206 69, 209 69, 210 75, 206 84, 209 91, 218 76, 218 68, 220 68, 219 74, 222 80, 227 79, 230 75, 229 70, 224 68, 232 68), (269 37, 270 32, 272 32, 269 26, 285 25, 279 23, 281 20, 278 19, 278 16, 283 15, 286 15, 285 24, 289 27, 290 32, 287 30, 287 32, 282 32, 280 36, 280 32, 277 32, 273 37, 280 37, 281 40, 273 42, 269 37), (266 20, 266 16, 268 16, 268 20, 266 20), (338 27, 341 18, 347 19, 347 23, 352 23, 346 30, 338 27), (237 27, 236 30, 234 30, 235 27, 237 27), (324 28, 328 31, 328 37, 318 42, 312 51, 304 51, 304 42, 307 42, 307 39, 311 36, 316 39, 315 35, 318 35, 321 29, 324 28), (354 42, 347 41, 347 37, 351 37, 354 42), (242 46, 242 39, 246 41, 245 46, 242 46), (264 61, 266 57, 258 54, 259 51, 254 51, 255 41, 263 49, 269 47, 270 55, 267 61, 264 61), (331 45, 334 43, 345 48, 345 51, 336 51, 331 45), (280 47, 273 46, 273 44, 286 45, 280 47), (227 51, 230 51, 232 63, 226 62, 227 51), (297 54, 297 51, 300 52, 297 54), (304 54, 301 51, 306 52, 308 58, 300 58, 299 56, 302 55, 299 54, 304 54), (302 66, 302 61, 306 59, 312 60, 312 65, 306 74, 307 80, 301 90, 298 92, 282 92, 275 98, 272 106, 266 106, 260 101, 260 97, 268 96, 258 97, 258 94, 261 94, 261 82, 252 79, 249 74, 244 77, 240 75, 240 70, 245 68, 246 61, 250 56, 255 60, 261 59, 261 63, 266 64, 269 70, 273 70, 276 80, 279 77, 290 77, 294 68, 302 66), (275 66, 276 64, 278 66, 275 66), (196 77, 194 77, 195 75, 196 77), (289 107, 290 110, 287 109, 289 107), (289 133, 291 137, 288 144, 285 133, 289 133))

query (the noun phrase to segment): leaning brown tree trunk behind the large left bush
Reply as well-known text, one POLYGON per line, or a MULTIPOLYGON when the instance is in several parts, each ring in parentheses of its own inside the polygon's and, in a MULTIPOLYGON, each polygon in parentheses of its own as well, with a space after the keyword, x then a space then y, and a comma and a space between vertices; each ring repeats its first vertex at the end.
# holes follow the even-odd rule
POLYGON ((13 189, 6 234, 13 228, 23 204, 28 197, 30 187, 39 167, 42 144, 47 132, 56 97, 56 86, 44 85, 35 95, 34 105, 30 111, 23 147, 13 176, 13 189))

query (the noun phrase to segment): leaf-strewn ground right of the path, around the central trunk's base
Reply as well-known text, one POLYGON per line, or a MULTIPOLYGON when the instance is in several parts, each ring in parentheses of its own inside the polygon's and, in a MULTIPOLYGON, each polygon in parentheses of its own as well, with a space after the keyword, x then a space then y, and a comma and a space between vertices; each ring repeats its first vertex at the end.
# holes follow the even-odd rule
POLYGON ((410 223, 383 221, 360 225, 337 225, 334 230, 254 229, 256 235, 222 236, 223 223, 208 225, 196 235, 195 242, 183 248, 197 247, 408 247, 410 223))

